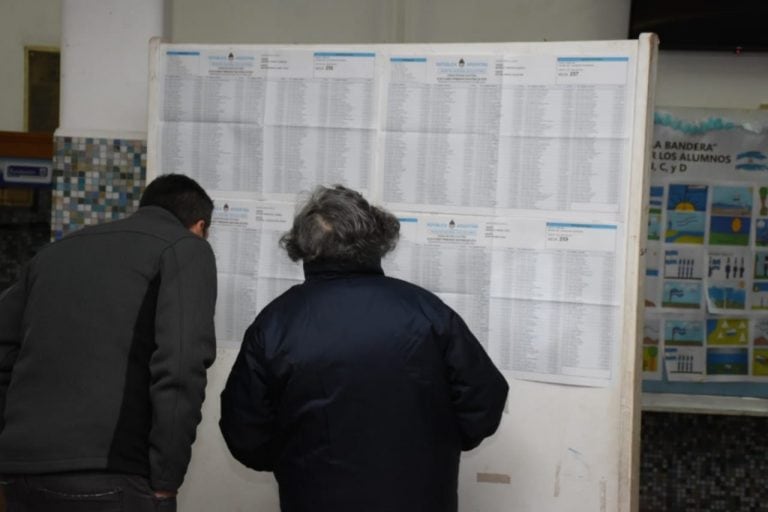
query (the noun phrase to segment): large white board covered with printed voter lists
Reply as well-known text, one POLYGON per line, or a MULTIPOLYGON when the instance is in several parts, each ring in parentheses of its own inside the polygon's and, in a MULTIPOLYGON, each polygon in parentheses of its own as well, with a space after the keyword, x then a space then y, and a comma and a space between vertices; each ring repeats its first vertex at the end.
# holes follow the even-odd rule
POLYGON ((148 178, 215 202, 219 357, 181 507, 279 510, 271 474, 227 454, 218 394, 247 325, 303 280, 277 246, 297 199, 339 183, 398 216, 385 272, 458 311, 509 381, 460 510, 634 510, 656 46, 155 41, 148 178))

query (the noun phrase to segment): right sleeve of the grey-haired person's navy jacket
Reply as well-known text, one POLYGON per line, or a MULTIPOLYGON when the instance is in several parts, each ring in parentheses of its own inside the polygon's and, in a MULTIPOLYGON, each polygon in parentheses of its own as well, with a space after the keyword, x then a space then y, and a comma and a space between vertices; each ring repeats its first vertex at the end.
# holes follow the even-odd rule
POLYGON ((451 312, 444 358, 461 449, 471 450, 501 422, 509 386, 464 320, 451 312))

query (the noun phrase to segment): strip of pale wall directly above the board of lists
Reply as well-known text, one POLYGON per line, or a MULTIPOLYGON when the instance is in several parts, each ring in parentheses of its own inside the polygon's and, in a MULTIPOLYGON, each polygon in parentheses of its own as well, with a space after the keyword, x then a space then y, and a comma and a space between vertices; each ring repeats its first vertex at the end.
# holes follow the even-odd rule
POLYGON ((172 0, 174 43, 624 39, 629 0, 172 0))

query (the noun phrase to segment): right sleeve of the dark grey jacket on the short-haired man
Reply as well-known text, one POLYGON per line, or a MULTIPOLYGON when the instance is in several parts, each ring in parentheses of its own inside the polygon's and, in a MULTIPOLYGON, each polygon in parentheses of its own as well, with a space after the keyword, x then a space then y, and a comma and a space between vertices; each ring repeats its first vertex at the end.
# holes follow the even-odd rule
POLYGON ((163 253, 150 359, 150 485, 178 489, 189 465, 216 357, 216 261, 208 242, 185 237, 163 253))

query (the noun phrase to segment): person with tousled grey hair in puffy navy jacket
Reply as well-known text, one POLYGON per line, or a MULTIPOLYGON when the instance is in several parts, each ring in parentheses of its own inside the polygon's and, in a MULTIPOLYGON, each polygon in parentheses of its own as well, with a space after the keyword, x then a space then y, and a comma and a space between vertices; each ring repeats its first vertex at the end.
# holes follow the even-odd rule
POLYGON ((506 380, 461 317, 382 272, 399 228, 319 187, 281 240, 306 280, 246 331, 220 427, 283 512, 455 512, 461 450, 501 420, 506 380))

